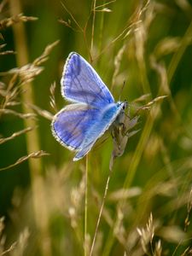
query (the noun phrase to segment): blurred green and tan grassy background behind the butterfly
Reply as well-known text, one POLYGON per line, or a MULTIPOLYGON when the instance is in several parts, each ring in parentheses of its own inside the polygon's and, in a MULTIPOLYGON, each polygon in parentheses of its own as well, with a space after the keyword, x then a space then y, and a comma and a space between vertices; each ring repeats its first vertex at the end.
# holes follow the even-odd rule
POLYGON ((50 96, 58 110, 67 103, 60 79, 71 51, 91 62, 116 100, 125 83, 121 100, 130 103, 131 118, 140 115, 140 131, 114 162, 93 255, 191 255, 191 1, 0 4, 0 45, 6 44, 0 47, 0 255, 90 255, 113 140, 93 148, 86 167, 85 159, 73 162, 73 153, 51 134, 50 96), (38 20, 16 18, 21 13, 38 20), (49 58, 34 64, 56 40, 45 54, 49 58), (27 63, 33 63, 25 73, 32 72, 31 82, 15 69, 27 63), (44 70, 37 75, 30 67, 44 70), (158 96, 167 97, 153 102, 158 96), (137 112, 146 104, 147 110, 137 112), (7 109, 35 113, 36 119, 7 109), (3 140, 29 126, 35 128, 3 140), (49 155, 30 157, 39 150, 49 155), (3 170, 27 155, 28 160, 3 170))

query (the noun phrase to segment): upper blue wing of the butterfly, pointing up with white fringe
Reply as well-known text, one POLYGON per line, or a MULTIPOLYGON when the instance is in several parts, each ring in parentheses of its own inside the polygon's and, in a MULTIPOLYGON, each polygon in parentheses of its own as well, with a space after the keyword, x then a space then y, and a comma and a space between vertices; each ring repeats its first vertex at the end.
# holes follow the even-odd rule
POLYGON ((96 71, 79 54, 72 52, 63 68, 61 95, 70 102, 102 108, 114 99, 96 71))

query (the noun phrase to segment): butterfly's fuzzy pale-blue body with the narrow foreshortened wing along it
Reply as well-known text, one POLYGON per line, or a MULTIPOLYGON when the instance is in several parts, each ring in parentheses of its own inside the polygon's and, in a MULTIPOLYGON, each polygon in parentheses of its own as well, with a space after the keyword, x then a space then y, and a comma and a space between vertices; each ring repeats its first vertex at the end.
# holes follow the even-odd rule
POLYGON ((119 113, 125 106, 124 102, 111 103, 106 108, 102 109, 96 116, 95 122, 90 125, 86 131, 86 136, 83 142, 79 145, 78 152, 73 160, 79 160, 87 154, 93 147, 96 140, 102 136, 102 134, 108 130, 108 127, 113 124, 113 121, 117 118, 119 113))

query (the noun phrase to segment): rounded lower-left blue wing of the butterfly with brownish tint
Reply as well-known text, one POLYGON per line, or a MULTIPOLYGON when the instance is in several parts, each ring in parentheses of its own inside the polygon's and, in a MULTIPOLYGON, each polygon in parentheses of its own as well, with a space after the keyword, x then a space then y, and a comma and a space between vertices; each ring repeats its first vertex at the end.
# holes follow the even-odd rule
POLYGON ((99 110, 86 104, 71 104, 55 114, 52 133, 55 139, 70 150, 78 150, 85 134, 95 124, 99 110))

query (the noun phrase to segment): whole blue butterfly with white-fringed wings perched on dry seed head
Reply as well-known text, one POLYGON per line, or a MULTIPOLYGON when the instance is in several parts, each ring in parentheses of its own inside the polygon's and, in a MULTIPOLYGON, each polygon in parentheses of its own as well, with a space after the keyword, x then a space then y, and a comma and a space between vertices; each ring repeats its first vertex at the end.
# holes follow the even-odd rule
POLYGON ((80 160, 109 126, 121 124, 127 102, 114 102, 93 67, 75 52, 63 68, 61 95, 72 104, 55 114, 52 133, 61 145, 76 151, 74 161, 80 160))

